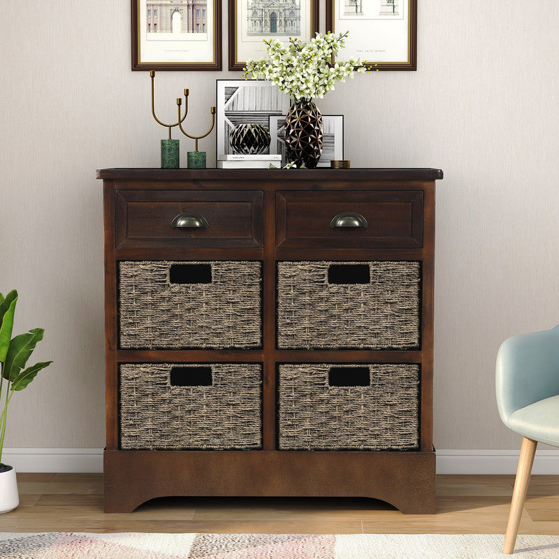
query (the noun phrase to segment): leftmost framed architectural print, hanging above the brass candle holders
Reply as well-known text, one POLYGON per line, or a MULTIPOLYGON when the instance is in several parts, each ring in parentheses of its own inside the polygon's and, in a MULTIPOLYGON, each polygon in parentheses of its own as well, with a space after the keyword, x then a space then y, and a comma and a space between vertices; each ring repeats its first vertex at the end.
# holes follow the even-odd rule
POLYGON ((221 70, 221 0, 131 0, 132 70, 221 70))

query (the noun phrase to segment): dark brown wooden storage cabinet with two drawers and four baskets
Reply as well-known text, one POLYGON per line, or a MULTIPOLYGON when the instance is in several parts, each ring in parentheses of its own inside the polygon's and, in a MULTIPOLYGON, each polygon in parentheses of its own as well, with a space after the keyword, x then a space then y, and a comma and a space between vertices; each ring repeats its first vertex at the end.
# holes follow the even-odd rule
POLYGON ((105 510, 435 511, 437 169, 103 169, 105 510))

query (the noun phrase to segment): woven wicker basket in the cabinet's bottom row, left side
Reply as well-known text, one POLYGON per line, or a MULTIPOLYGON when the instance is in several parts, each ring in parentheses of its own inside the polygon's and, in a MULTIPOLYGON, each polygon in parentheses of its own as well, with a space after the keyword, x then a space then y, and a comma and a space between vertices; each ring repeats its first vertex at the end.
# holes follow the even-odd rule
POLYGON ((119 376, 121 449, 262 446, 261 365, 126 364, 119 376), (205 370, 210 386, 184 385, 205 370))

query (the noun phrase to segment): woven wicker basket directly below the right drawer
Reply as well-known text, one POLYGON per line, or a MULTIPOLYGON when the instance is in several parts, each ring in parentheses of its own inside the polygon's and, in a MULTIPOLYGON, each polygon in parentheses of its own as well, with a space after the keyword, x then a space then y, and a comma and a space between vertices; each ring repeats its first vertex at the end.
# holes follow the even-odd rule
POLYGON ((279 262, 277 347, 416 349, 419 287, 419 262, 279 262))

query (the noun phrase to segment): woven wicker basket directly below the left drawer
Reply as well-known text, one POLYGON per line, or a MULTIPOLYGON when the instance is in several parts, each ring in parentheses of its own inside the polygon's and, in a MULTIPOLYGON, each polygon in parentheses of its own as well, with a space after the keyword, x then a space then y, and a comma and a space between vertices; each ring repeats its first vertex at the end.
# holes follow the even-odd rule
POLYGON ((120 347, 261 347, 261 267, 260 262, 120 262, 120 347))

